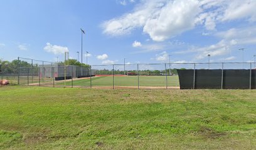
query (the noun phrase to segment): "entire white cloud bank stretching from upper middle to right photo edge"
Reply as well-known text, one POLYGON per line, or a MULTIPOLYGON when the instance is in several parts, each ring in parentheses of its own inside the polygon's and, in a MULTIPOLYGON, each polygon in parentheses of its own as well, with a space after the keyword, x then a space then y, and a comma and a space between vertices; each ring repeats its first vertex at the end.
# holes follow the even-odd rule
POLYGON ((254 8, 255 0, 142 0, 131 12, 105 21, 102 27, 112 36, 140 27, 152 40, 164 41, 197 25, 211 31, 225 21, 256 21, 254 8))

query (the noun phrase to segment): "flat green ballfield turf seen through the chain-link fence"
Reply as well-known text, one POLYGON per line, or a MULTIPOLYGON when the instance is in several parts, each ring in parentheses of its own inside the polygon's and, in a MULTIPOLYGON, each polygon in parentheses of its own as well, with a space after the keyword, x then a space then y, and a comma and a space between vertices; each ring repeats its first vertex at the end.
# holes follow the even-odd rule
MULTIPOLYGON (((137 86, 137 79, 137 76, 115 76, 114 86, 137 86)), ((71 86, 72 83, 68 81, 66 84, 71 86)), ((92 86, 112 86, 112 84, 112 76, 92 78, 92 86)), ((74 80, 73 86, 90 86, 90 79, 74 80)), ((166 76, 139 76, 139 86, 166 86, 166 76)), ((179 86, 179 77, 168 76, 168 86, 179 86)))

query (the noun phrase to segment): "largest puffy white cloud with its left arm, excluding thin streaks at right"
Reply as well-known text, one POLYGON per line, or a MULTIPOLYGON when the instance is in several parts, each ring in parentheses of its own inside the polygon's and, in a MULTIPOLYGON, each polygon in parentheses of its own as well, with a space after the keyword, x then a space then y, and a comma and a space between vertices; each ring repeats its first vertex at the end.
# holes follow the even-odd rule
POLYGON ((105 34, 112 36, 129 34, 136 27, 143 27, 151 39, 164 41, 195 26, 196 14, 200 12, 198 6, 196 0, 142 1, 133 12, 105 21, 102 27, 105 34))

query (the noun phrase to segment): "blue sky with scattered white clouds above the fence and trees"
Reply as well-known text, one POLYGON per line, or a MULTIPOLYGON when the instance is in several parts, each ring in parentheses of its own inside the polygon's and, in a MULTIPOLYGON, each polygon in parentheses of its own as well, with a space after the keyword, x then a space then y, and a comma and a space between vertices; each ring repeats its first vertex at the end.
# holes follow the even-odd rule
POLYGON ((256 54, 256 1, 1 1, 0 58, 89 64, 245 62, 256 54), (81 54, 81 52, 80 52, 81 54), (80 59, 81 61, 81 59, 80 59), (86 57, 83 56, 85 63, 86 57))

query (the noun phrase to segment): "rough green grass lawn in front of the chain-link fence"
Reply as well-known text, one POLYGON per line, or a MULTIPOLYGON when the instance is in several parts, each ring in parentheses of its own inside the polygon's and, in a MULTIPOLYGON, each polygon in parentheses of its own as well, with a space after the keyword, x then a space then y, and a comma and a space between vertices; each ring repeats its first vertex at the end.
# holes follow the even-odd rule
POLYGON ((256 149, 255 90, 0 88, 0 149, 256 149))

